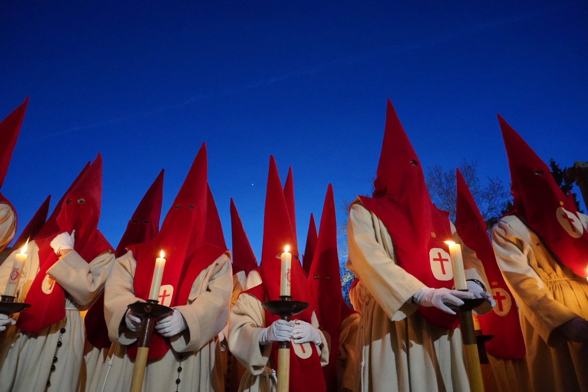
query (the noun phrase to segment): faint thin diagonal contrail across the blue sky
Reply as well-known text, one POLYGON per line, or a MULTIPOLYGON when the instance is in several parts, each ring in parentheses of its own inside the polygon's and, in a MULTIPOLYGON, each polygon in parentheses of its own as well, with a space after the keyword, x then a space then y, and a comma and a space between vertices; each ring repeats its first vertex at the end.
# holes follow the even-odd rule
POLYGON ((96 128, 98 126, 109 125, 112 123, 121 122, 123 120, 129 119, 136 119, 136 118, 145 118, 148 116, 152 116, 155 113, 166 112, 167 110, 178 109, 184 106, 192 105, 193 103, 202 102, 204 100, 212 100, 212 99, 220 99, 226 98, 229 96, 239 95, 245 93, 247 91, 253 89, 260 89, 264 88, 269 85, 273 85, 276 83, 280 83, 285 81, 286 79, 293 78, 296 76, 305 76, 305 75, 315 75, 316 73, 325 72, 330 68, 340 65, 351 65, 355 63, 362 63, 367 62, 372 59, 382 58, 385 56, 395 55, 398 53, 415 51, 416 49, 425 48, 426 46, 435 45, 437 43, 452 41, 453 39, 457 39, 463 36, 474 35, 477 32, 486 31, 490 29, 496 29, 500 26, 510 25, 516 22, 523 21, 525 19, 532 19, 536 18, 537 16, 542 16, 545 14, 550 14, 557 11, 562 11, 563 9, 570 8, 572 6, 580 5, 582 2, 570 2, 568 4, 557 4, 553 6, 549 6, 546 8, 536 9, 529 12, 524 12, 523 14, 518 15, 509 15, 499 19, 493 19, 492 21, 483 22, 476 25, 466 26, 460 29, 456 29, 454 31, 441 33, 439 35, 435 35, 426 39, 422 39, 419 41, 414 42, 407 42, 400 45, 392 45, 386 46, 384 48, 377 49, 375 51, 361 53, 355 56, 348 56, 345 58, 335 59, 333 61, 325 62, 322 64, 317 65, 309 65, 297 68, 293 71, 283 73, 282 75, 272 76, 267 79, 261 79, 259 81, 253 81, 250 83, 246 83, 245 85, 241 85, 231 89, 225 89, 224 91, 220 91, 218 93, 206 94, 206 95, 196 95, 188 100, 184 100, 183 102, 178 102, 173 105, 169 106, 160 106, 155 110, 145 110, 143 112, 136 112, 130 115, 121 116, 114 119, 103 120, 100 122, 90 123, 86 125, 76 126, 74 128, 69 128, 66 130, 62 130, 60 132, 54 132, 49 135, 43 135, 39 138, 35 138, 36 140, 44 140, 49 139, 54 136, 65 135, 66 133, 72 133, 83 129, 89 128, 96 128))

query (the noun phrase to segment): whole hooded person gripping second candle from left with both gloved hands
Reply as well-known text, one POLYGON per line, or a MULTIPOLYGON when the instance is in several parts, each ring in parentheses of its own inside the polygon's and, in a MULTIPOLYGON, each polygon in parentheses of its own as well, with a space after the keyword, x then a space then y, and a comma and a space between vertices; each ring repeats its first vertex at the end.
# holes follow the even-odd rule
POLYGON ((98 391, 131 387, 141 319, 128 305, 150 295, 156 257, 163 251, 159 303, 173 308, 153 328, 143 391, 223 390, 218 334, 225 326, 232 289, 230 252, 206 242, 206 146, 149 242, 127 246, 106 283, 104 306, 113 341, 98 391))

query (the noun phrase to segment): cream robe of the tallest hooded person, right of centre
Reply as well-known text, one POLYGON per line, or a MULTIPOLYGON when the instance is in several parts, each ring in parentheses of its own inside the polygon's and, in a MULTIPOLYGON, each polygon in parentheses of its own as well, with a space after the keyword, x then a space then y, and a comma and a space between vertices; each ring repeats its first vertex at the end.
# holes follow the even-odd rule
MULTIPOLYGON (((453 226, 452 232, 461 243, 453 226)), ((396 265, 386 226, 359 199, 349 211, 347 237, 347 267, 362 283, 354 290, 365 289, 358 332, 361 363, 357 390, 469 391, 459 327, 441 329, 416 313, 418 305, 412 303, 412 296, 425 284, 396 265)), ((462 249, 466 279, 486 282, 475 253, 463 244, 462 249)), ((480 308, 483 312, 491 309, 489 303, 480 308)))

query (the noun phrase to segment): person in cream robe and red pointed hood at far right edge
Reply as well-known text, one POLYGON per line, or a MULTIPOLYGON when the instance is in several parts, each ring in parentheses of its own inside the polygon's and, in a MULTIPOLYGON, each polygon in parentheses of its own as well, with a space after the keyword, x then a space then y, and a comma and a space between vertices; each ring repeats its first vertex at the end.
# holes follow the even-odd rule
POLYGON ((519 305, 533 391, 588 391, 588 217, 499 116, 513 209, 492 229, 496 260, 519 305))

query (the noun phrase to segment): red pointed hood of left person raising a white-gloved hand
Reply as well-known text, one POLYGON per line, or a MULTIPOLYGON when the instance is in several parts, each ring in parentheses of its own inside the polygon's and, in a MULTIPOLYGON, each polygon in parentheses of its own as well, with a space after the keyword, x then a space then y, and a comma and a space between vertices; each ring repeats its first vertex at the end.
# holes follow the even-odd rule
POLYGON ((57 234, 71 234, 75 230, 74 250, 88 263, 107 250, 113 251, 98 230, 101 195, 102 157, 98 154, 65 196, 56 217, 58 233, 44 239, 35 238, 40 269, 25 298, 31 307, 21 313, 16 323, 21 330, 38 333, 65 317, 65 291, 47 274, 49 267, 59 259, 50 244, 57 234))

